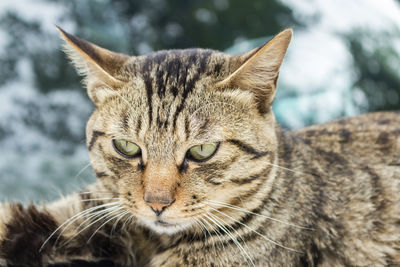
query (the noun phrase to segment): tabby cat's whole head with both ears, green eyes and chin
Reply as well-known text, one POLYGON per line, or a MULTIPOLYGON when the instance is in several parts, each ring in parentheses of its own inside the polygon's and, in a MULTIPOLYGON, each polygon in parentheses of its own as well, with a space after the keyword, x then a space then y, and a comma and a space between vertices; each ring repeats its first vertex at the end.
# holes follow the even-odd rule
POLYGON ((222 203, 262 201, 275 173, 271 104, 291 30, 237 56, 131 57, 60 33, 96 106, 86 132, 93 169, 138 221, 174 233, 218 223, 222 203))

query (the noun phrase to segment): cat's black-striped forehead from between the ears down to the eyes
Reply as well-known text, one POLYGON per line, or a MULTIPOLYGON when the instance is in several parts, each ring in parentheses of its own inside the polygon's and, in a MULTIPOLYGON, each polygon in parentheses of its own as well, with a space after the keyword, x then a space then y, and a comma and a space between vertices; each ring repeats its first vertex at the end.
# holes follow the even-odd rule
POLYGON ((132 59, 126 71, 135 82, 102 108, 104 117, 117 115, 108 128, 122 137, 138 136, 156 150, 160 144, 166 149, 171 140, 208 140, 211 132, 218 137, 218 129, 232 128, 250 108, 245 101, 249 93, 215 88, 229 72, 229 59, 206 49, 168 50, 132 59))

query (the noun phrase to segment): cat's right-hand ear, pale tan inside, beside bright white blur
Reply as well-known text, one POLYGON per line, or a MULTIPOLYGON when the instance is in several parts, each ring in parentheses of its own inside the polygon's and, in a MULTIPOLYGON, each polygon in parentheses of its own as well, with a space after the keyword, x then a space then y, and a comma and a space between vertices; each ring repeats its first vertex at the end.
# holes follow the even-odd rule
POLYGON ((276 92, 279 68, 289 46, 292 30, 276 35, 265 45, 231 58, 231 74, 217 85, 249 90, 255 95, 261 114, 270 108, 276 92))

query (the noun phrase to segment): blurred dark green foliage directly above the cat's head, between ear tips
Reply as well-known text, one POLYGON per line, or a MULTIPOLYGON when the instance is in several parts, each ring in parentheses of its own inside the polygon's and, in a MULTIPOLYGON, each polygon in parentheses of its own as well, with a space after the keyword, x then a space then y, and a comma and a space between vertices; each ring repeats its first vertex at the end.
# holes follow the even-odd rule
POLYGON ((237 38, 272 35, 298 24, 292 11, 276 0, 58 2, 67 6, 78 35, 135 54, 141 53, 140 46, 145 44, 153 50, 226 49, 237 38))

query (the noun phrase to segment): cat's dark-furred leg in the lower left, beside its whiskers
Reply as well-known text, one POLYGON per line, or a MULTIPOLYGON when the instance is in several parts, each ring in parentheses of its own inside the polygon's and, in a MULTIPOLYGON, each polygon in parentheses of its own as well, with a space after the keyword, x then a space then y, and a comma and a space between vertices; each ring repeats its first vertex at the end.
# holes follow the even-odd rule
POLYGON ((114 222, 128 214, 113 197, 86 191, 41 206, 1 204, 0 265, 46 266, 102 259, 133 262, 122 259, 126 246, 121 233, 110 238, 114 222))

